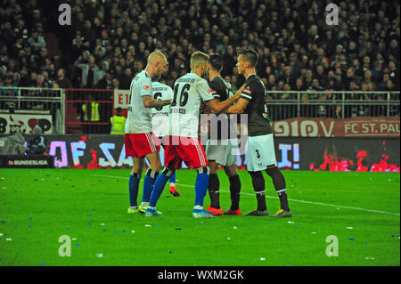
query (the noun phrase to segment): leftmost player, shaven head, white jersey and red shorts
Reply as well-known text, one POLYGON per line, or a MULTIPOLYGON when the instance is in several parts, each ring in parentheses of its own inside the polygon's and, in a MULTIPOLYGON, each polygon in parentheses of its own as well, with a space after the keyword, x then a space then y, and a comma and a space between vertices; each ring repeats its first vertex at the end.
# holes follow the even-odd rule
POLYGON ((151 53, 146 68, 134 77, 130 85, 125 146, 127 157, 133 159, 133 169, 128 183, 130 202, 128 213, 145 212, 151 198, 152 185, 160 171, 160 141, 151 132, 151 108, 162 108, 171 100, 154 99, 151 79, 159 78, 166 66, 167 59, 163 53, 157 51, 151 53), (138 187, 144 158, 147 158, 150 166, 143 180, 143 200, 138 207, 138 187))

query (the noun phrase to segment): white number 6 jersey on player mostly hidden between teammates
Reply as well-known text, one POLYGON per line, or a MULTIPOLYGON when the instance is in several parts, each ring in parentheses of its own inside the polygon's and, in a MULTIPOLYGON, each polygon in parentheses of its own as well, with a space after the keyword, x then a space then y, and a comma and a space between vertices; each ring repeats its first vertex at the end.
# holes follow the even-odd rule
MULTIPOLYGON (((169 85, 152 82, 154 100, 172 100, 173 89, 169 85)), ((156 137, 168 135, 168 113, 170 105, 161 108, 151 108, 151 132, 156 137)))

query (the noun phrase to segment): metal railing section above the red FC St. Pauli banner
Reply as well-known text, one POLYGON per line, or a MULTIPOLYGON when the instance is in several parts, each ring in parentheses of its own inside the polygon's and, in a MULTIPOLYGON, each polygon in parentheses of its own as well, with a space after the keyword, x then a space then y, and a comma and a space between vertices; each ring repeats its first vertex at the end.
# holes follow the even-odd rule
POLYGON ((267 91, 273 121, 288 118, 398 117, 398 92, 267 91))

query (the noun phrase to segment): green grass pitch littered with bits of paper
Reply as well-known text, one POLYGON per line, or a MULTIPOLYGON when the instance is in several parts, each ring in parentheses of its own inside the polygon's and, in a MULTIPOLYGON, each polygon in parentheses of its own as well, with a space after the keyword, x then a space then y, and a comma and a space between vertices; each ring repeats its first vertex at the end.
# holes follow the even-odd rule
MULTIPOLYGON (((400 265, 400 174, 286 171, 292 218, 193 219, 194 171, 177 172, 181 197, 166 187, 165 216, 148 218, 127 214, 129 173, 1 169, 0 265, 400 265), (71 256, 59 256, 61 235, 71 256), (326 256, 329 235, 339 256, 326 256)), ((225 210, 228 179, 218 175, 225 210)), ((250 175, 240 177, 245 214, 257 202, 250 175)), ((279 200, 265 179, 273 215, 279 200)))

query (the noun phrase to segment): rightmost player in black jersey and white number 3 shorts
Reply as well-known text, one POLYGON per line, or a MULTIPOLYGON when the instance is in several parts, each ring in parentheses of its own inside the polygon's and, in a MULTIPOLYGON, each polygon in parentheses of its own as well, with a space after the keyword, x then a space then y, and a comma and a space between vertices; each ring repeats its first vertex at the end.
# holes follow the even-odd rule
POLYGON ((291 217, 288 205, 285 178, 280 172, 274 153, 273 129, 268 120, 266 106, 266 89, 262 80, 256 74, 258 53, 244 48, 238 54, 236 67, 238 73, 246 79, 245 88, 237 103, 225 113, 248 114, 248 149, 247 170, 252 178, 252 185, 258 199, 258 208, 247 215, 266 216, 265 178, 266 172, 274 184, 275 191, 280 199, 280 209, 272 217, 291 217))

